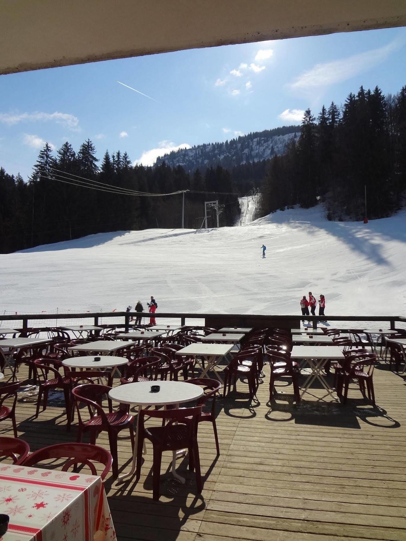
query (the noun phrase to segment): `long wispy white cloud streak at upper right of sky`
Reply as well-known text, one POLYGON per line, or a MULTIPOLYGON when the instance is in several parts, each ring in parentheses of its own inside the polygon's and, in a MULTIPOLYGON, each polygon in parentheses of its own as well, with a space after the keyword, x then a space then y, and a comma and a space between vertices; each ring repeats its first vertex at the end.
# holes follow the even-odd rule
POLYGON ((395 40, 379 49, 361 52, 358 55, 325 62, 324 64, 316 64, 312 69, 299 75, 296 81, 290 84, 290 88, 311 92, 318 87, 326 87, 330 84, 346 81, 383 62, 397 46, 397 40, 395 40))

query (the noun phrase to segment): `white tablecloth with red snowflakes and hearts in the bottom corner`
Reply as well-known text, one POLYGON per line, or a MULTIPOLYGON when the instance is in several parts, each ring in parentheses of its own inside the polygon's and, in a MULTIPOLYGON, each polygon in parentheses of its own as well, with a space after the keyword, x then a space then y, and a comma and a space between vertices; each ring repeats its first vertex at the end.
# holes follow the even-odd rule
POLYGON ((0 462, 3 541, 115 541, 100 477, 0 462))

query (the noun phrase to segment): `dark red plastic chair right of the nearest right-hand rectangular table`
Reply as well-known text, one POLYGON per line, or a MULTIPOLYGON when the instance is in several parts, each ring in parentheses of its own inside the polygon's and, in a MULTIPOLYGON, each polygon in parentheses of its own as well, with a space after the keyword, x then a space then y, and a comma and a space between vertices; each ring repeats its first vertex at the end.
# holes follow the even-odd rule
POLYGON ((375 391, 374 391, 374 368, 377 362, 378 356, 376 353, 366 353, 364 355, 358 355, 358 358, 348 357, 346 359, 343 370, 338 375, 337 394, 340 396, 342 387, 344 386, 343 404, 347 401, 348 388, 350 380, 358 381, 359 390, 364 398, 365 385, 368 392, 368 399, 371 400, 375 406, 375 391), (354 362, 354 364, 352 364, 354 362))

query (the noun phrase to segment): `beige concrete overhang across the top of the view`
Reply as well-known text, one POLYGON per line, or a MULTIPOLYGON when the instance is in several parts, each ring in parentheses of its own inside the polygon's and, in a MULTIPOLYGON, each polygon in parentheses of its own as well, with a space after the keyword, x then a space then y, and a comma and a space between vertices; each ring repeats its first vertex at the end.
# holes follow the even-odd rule
POLYGON ((406 0, 2 0, 0 74, 406 25, 406 0))

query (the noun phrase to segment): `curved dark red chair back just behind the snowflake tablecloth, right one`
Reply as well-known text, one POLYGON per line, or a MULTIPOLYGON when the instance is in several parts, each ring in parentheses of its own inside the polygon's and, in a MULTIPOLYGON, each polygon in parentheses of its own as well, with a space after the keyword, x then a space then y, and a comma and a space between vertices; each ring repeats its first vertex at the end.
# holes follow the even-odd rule
POLYGON ((34 451, 25 460, 21 462, 23 466, 34 466, 42 460, 67 458, 69 459, 62 467, 62 471, 68 471, 70 466, 74 466, 74 472, 77 470, 77 465, 86 464, 89 466, 91 474, 97 476, 98 473, 93 462, 103 464, 104 470, 100 477, 104 479, 110 471, 113 464, 112 455, 99 445, 90 445, 88 443, 58 443, 43 447, 34 451))

